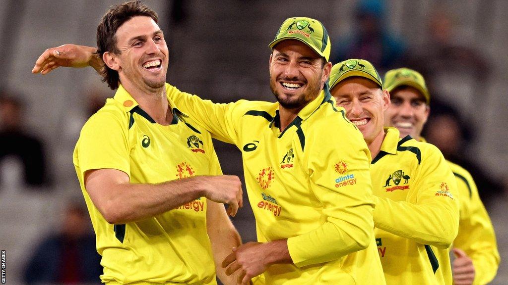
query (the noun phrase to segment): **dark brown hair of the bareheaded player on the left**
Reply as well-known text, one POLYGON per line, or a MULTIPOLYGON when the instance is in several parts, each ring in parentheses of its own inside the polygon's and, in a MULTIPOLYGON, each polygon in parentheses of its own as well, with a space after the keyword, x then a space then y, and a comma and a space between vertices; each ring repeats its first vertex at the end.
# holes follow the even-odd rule
MULTIPOLYGON (((97 27, 97 53, 102 58, 105 52, 120 54, 116 47, 116 31, 118 28, 136 16, 150 17, 158 23, 158 16, 140 1, 125 2, 121 5, 114 5, 102 17, 97 27)), ((118 72, 109 68, 106 64, 100 71, 103 82, 107 82, 109 88, 115 90, 119 85, 118 72)))

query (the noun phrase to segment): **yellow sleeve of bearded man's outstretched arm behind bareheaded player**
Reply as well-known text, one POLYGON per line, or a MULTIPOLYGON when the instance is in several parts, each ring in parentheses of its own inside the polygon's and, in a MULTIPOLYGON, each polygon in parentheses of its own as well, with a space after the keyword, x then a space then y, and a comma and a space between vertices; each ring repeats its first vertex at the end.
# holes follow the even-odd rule
POLYGON ((216 139, 237 145, 239 122, 243 114, 238 112, 240 100, 236 103, 213 103, 196 95, 181 92, 171 85, 166 85, 168 97, 175 102, 180 111, 192 117, 216 139))

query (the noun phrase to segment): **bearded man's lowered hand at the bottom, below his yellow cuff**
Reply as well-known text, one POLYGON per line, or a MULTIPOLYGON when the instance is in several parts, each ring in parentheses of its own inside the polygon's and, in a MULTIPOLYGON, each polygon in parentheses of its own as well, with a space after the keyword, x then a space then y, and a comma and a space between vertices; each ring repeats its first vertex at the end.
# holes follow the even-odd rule
POLYGON ((268 261, 262 249, 263 244, 261 242, 247 242, 233 248, 233 253, 227 256, 222 263, 223 268, 227 267, 226 275, 240 270, 238 284, 248 285, 251 278, 265 272, 268 261))

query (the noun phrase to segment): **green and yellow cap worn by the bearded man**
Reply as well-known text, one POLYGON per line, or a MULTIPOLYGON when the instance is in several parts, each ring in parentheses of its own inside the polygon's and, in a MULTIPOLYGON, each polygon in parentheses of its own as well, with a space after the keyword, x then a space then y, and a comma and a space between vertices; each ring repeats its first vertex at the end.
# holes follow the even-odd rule
POLYGON ((273 49, 276 44, 288 39, 301 41, 324 57, 326 61, 330 59, 330 37, 325 26, 318 20, 307 17, 286 19, 269 47, 273 49))

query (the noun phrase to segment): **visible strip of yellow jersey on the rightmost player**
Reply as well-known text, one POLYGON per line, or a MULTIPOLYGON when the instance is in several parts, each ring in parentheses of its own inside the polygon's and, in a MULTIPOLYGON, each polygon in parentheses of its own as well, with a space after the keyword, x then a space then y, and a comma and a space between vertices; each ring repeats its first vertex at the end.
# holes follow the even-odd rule
POLYGON ((494 227, 471 174, 455 163, 448 163, 455 175, 460 195, 459 234, 453 246, 471 258, 475 270, 473 284, 487 284, 494 279, 499 266, 494 227))

